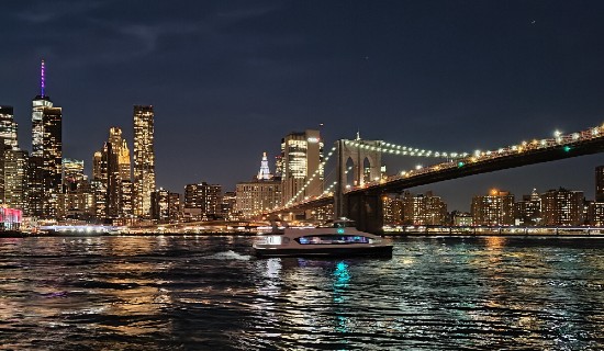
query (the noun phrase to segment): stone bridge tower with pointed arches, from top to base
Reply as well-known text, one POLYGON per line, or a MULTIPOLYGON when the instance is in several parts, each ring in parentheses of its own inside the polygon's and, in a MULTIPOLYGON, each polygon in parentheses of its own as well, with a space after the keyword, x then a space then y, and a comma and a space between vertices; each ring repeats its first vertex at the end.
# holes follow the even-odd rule
MULTIPOLYGON (((362 185, 368 181, 380 179, 382 168, 381 140, 362 140, 357 134, 355 140, 337 141, 336 174, 338 184, 334 194, 335 217, 350 217, 357 220, 359 229, 381 230, 382 223, 381 194, 362 194, 362 199, 346 199, 347 185, 362 185), (350 162, 351 161, 351 162, 350 162), (351 168, 348 172, 349 165, 351 168), (348 184, 348 173, 353 174, 353 184, 348 184), (376 218, 376 225, 367 224, 367 218, 376 218)), ((355 196, 358 197, 358 196, 355 196)), ((373 220, 371 220, 373 222, 373 220)))

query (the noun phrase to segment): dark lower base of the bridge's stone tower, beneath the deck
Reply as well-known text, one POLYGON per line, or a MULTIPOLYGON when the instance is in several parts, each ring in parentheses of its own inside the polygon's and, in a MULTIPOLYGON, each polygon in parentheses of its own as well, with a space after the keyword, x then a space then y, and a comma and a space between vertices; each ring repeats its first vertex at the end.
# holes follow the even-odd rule
POLYGON ((357 223, 357 229, 372 234, 383 233, 383 202, 381 193, 356 192, 344 195, 345 216, 357 223))

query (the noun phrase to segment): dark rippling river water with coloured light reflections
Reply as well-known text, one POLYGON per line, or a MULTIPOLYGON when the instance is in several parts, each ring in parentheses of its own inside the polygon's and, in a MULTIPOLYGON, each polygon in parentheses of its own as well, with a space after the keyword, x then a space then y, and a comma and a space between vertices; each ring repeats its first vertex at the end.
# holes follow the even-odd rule
POLYGON ((603 238, 392 238, 256 259, 254 238, 0 239, 0 350, 602 350, 603 238))

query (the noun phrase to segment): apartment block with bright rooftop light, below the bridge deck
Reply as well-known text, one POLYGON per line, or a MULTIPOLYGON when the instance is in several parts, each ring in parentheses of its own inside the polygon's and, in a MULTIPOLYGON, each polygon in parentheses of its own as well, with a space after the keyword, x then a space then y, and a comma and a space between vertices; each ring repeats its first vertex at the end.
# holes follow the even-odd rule
POLYGON ((489 195, 474 196, 471 214, 477 226, 511 226, 514 224, 514 195, 493 189, 489 195))

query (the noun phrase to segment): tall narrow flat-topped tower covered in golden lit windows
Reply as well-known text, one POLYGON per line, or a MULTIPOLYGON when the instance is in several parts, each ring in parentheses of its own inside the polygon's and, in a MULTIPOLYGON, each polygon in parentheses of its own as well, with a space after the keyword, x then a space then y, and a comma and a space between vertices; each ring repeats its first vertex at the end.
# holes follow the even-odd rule
POLYGON ((153 106, 134 106, 134 215, 150 217, 152 199, 155 191, 153 106))

